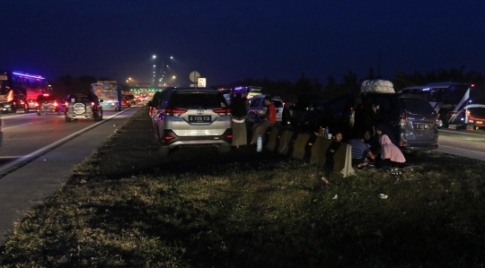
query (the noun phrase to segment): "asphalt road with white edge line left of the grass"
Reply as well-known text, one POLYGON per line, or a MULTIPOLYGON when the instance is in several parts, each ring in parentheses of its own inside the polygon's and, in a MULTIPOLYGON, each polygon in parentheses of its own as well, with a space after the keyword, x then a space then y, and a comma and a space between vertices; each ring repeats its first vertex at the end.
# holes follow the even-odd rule
POLYGON ((0 149, 4 160, 0 166, 0 245, 12 233, 15 221, 22 220, 26 212, 62 186, 75 166, 138 109, 105 113, 99 123, 66 123, 62 116, 33 114, 2 117, 5 123, 4 145, 0 149))

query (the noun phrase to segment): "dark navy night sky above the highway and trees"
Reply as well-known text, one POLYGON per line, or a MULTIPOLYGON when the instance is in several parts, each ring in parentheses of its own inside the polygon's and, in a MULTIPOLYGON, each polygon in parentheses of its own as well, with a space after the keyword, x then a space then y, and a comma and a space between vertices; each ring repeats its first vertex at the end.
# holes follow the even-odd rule
POLYGON ((483 0, 3 0, 0 69, 151 82, 153 65, 189 84, 245 77, 326 83, 369 67, 485 73, 483 0), (154 62, 153 55, 157 56, 154 62), (173 60, 169 59, 173 56, 173 60))

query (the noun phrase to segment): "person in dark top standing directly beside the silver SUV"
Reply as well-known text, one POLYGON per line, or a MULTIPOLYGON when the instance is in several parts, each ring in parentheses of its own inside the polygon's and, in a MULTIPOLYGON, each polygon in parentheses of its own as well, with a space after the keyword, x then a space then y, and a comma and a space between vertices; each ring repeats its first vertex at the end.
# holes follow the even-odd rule
POLYGON ((231 116, 233 117, 233 143, 232 146, 239 146, 248 143, 245 118, 247 114, 246 98, 242 98, 241 93, 237 93, 231 101, 231 116))

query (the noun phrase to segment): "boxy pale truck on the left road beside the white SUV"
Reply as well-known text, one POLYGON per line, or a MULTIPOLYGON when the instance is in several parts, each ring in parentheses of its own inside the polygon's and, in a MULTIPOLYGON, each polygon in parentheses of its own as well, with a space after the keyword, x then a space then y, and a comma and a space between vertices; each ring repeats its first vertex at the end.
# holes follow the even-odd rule
POLYGON ((93 93, 102 100, 101 107, 105 110, 121 110, 121 88, 116 81, 98 81, 92 85, 93 93))

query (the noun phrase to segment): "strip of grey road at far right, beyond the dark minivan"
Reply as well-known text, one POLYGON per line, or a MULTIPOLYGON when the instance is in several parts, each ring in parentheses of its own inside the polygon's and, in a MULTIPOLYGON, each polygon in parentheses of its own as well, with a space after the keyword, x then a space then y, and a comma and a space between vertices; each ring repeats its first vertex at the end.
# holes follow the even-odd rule
POLYGON ((437 151, 485 160, 485 134, 439 130, 437 151))

